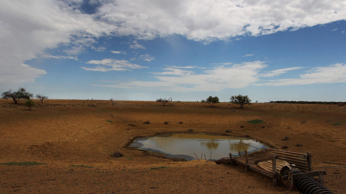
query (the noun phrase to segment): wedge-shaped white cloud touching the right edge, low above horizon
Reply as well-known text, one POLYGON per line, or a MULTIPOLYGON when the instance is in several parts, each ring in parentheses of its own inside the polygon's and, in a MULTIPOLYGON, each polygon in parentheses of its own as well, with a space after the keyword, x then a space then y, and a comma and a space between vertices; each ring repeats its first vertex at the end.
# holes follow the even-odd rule
POLYGON ((270 80, 257 86, 286 86, 346 82, 346 64, 337 63, 327 67, 312 68, 299 78, 270 80))

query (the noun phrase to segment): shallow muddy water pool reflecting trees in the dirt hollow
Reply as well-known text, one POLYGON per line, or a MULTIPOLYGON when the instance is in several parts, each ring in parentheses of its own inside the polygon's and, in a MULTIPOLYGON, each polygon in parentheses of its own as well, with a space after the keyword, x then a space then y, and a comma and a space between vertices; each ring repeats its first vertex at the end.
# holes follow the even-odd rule
POLYGON ((187 160, 197 159, 194 153, 199 159, 201 159, 201 154, 203 154, 203 159, 204 154, 209 159, 212 151, 211 160, 216 160, 221 157, 229 157, 229 153, 238 156, 238 151, 247 150, 248 153, 251 153, 257 151, 256 148, 266 148, 254 140, 206 134, 171 134, 139 138, 131 146, 151 152, 165 153, 166 157, 187 160))

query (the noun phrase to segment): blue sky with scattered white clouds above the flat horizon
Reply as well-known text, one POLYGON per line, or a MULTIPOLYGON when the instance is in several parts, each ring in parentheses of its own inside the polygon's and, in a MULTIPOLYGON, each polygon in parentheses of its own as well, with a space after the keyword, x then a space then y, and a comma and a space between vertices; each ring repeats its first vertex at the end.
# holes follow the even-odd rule
POLYGON ((344 0, 0 0, 0 92, 346 101, 344 0))

